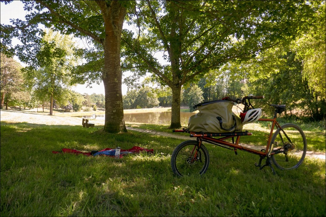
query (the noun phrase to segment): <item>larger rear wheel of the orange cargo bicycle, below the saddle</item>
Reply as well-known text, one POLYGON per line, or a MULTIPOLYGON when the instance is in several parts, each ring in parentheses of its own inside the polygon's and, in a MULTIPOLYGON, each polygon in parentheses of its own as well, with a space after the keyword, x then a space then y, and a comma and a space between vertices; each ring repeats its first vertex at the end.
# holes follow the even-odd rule
POLYGON ((292 123, 284 124, 281 128, 278 128, 272 137, 273 163, 279 169, 298 168, 304 161, 307 152, 304 132, 299 126, 292 123))

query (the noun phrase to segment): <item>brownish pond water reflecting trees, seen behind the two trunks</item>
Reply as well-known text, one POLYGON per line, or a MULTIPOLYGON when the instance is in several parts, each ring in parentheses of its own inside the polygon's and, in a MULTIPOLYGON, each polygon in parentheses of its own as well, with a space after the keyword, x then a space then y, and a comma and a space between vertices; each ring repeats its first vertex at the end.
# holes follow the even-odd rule
MULTIPOLYGON (((188 125, 188 119, 194 115, 192 112, 180 112, 181 125, 188 125)), ((171 124, 171 111, 139 112, 124 114, 126 122, 151 123, 151 124, 171 124)), ((79 116, 81 118, 92 119, 92 115, 79 116)), ((104 114, 95 116, 96 120, 105 120, 104 114)))

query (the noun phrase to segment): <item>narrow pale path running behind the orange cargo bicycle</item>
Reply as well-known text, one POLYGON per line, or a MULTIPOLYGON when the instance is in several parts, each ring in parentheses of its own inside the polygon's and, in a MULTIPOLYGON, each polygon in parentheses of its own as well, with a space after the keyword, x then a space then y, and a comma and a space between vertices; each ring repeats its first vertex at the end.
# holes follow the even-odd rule
MULTIPOLYGON (((177 134, 173 134, 173 133, 158 132, 156 130, 144 130, 144 129, 138 129, 138 128, 132 128, 132 127, 126 127, 126 128, 127 128, 127 130, 138 131, 138 132, 140 132, 142 134, 150 134, 150 135, 155 135, 155 136, 180 138, 180 139, 185 139, 185 140, 189 140, 189 139, 194 139, 195 140, 196 139, 196 138, 189 137, 186 133, 185 133, 185 136, 182 136, 182 135, 177 135, 177 134)), ((261 150, 261 149, 265 148, 265 146, 264 147, 263 146, 251 146, 251 145, 246 145, 246 144, 242 144, 242 146, 257 149, 257 150, 261 150)), ((326 153, 323 153, 323 152, 318 153, 318 152, 307 151, 306 156, 326 160, 326 153)))

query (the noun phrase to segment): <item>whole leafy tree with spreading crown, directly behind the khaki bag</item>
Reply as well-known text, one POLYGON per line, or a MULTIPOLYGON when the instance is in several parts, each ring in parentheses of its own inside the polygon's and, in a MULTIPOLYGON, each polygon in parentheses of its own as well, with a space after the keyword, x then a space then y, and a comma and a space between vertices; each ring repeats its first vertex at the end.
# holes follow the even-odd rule
POLYGON ((123 33, 125 65, 171 88, 170 128, 181 127, 182 85, 288 43, 312 13, 307 1, 140 1, 133 17, 139 34, 123 33), (158 61, 160 52, 168 64, 158 61))

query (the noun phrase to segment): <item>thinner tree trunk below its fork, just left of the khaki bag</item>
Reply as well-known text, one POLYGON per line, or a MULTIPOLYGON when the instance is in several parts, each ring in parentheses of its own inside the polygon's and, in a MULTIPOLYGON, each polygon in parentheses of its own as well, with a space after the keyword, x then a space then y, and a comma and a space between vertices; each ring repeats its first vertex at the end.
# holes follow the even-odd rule
POLYGON ((180 128, 180 92, 181 85, 172 87, 171 125, 170 128, 180 128))

